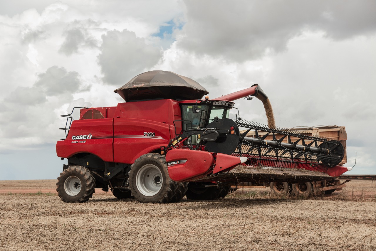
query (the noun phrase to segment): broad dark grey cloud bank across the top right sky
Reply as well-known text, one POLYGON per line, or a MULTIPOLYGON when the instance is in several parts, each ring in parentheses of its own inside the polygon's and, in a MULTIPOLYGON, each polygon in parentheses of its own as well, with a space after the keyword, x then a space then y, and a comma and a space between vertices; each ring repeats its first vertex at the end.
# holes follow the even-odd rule
POLYGON ((334 39, 374 34, 376 3, 343 1, 186 1, 179 46, 191 53, 243 62, 284 51, 305 30, 334 39), (330 17, 330 18, 328 18, 330 17))

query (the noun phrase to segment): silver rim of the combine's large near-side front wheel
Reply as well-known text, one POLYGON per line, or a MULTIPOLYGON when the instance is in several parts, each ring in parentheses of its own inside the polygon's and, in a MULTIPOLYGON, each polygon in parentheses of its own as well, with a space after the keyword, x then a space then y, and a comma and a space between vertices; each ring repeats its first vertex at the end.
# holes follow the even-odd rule
POLYGON ((158 194, 162 183, 162 172, 155 165, 144 165, 136 175, 136 187, 145 196, 158 194))

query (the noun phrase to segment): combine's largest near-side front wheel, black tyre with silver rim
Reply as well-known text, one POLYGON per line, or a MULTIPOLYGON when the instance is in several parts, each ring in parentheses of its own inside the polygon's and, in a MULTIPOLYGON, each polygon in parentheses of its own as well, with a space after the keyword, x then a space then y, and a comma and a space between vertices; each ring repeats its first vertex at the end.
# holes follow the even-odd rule
POLYGON ((178 185, 168 175, 164 155, 148 153, 140 156, 128 175, 131 195, 141 203, 167 203, 176 194, 178 185))

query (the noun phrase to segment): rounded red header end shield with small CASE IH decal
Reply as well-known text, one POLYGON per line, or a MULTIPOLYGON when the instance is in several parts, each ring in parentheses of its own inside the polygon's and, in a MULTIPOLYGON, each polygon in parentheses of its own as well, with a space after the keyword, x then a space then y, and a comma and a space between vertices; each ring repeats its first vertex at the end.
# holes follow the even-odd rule
POLYGON ((172 180, 180 182, 205 176, 214 162, 214 157, 207 151, 174 149, 167 152, 166 161, 168 175, 172 180), (174 163, 176 161, 179 163, 174 163))

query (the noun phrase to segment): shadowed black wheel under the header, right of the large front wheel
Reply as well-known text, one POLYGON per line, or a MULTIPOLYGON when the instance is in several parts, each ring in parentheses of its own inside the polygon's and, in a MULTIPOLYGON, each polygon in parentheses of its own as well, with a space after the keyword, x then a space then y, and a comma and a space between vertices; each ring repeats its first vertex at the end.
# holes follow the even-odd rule
MULTIPOLYGON (((213 183, 206 182, 204 184, 212 185, 213 183)), ((191 182, 185 196, 190 200, 214 200, 219 197, 221 191, 221 187, 218 186, 199 187, 191 182)))

